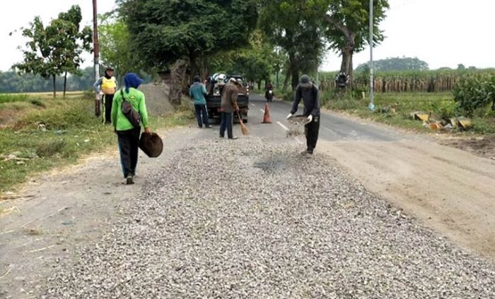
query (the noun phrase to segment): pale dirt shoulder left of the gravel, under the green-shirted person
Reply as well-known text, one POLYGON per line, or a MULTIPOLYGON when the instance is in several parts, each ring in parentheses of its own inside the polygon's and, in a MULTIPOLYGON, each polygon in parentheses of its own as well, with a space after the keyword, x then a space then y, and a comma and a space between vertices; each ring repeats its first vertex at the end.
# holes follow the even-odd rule
POLYGON ((0 298, 35 298, 52 266, 76 259, 77 248, 111 227, 122 213, 122 202, 138 194, 149 174, 168 163, 167 153, 199 133, 189 127, 159 130, 167 140, 164 153, 154 159, 139 153, 134 185, 123 184, 116 142, 76 165, 33 176, 18 188, 20 197, 1 200, 0 207, 12 211, 0 217, 0 298))

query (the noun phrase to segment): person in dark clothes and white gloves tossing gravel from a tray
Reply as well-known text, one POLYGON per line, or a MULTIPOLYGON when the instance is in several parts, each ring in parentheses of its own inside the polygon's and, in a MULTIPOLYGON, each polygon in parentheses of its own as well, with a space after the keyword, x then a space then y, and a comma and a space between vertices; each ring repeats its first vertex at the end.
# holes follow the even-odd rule
POLYGON ((289 119, 296 113, 299 102, 303 99, 303 116, 307 116, 308 123, 304 125, 307 149, 301 154, 313 154, 318 141, 318 131, 320 130, 320 99, 318 94, 318 87, 310 81, 309 76, 302 75, 299 85, 296 87, 296 96, 291 113, 287 116, 289 119))

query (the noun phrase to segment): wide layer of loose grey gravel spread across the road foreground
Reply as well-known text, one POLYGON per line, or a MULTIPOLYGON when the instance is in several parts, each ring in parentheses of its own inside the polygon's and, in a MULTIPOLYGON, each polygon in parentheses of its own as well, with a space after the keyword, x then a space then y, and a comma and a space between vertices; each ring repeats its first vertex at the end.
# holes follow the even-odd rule
POLYGON ((494 298, 494 264, 300 150, 250 137, 176 152, 43 298, 494 298))

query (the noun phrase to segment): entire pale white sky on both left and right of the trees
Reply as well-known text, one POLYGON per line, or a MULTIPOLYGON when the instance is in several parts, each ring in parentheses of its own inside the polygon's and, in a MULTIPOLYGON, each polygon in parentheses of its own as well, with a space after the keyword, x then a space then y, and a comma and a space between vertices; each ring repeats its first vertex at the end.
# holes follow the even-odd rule
MULTIPOLYGON (((23 59, 17 49, 25 44, 19 28, 27 27, 35 16, 47 23, 74 4, 81 6, 83 25, 92 25, 91 0, 15 0, 4 6, 0 71, 23 59), (9 36, 14 30, 18 32, 9 36)), ((431 69, 457 68, 459 63, 495 68, 495 0, 389 0, 389 4, 387 17, 380 24, 386 38, 373 49, 375 60, 407 56, 426 61, 431 69)), ((111 11, 114 6, 114 0, 98 0, 98 13, 111 11)), ((83 66, 90 66, 91 55, 85 58, 83 66)), ((354 66, 367 61, 369 49, 354 56, 354 66)), ((339 55, 330 52, 320 70, 337 70, 340 62, 339 55)))

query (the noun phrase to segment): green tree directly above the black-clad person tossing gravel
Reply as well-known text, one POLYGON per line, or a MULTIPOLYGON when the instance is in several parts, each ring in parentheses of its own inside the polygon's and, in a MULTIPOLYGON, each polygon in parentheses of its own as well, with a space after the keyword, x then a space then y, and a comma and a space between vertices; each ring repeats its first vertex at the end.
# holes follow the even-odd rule
POLYGON ((287 76, 296 88, 301 73, 313 73, 323 54, 323 20, 332 0, 264 0, 260 28, 275 46, 287 54, 287 76))

